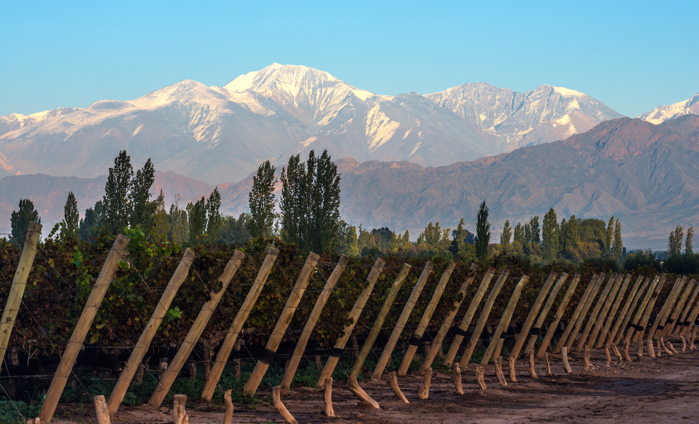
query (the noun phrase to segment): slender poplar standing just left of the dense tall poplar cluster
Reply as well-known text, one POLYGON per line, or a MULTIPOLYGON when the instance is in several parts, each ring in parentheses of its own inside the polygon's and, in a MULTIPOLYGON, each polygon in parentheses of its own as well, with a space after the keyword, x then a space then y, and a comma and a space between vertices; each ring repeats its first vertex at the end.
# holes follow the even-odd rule
POLYGON ((257 168, 257 175, 252 177, 252 190, 248 195, 250 203, 250 233, 253 237, 270 237, 274 223, 274 176, 275 167, 265 161, 257 168))

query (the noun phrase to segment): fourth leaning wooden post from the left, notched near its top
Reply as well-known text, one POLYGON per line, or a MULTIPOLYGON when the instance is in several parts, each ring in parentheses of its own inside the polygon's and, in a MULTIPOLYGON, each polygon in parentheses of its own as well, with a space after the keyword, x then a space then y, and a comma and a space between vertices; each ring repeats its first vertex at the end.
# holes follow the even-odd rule
POLYGON ((189 353, 192 353, 192 349, 196 346, 196 342, 199 340, 199 337, 201 337, 201 333, 204 331, 204 328, 206 328, 219 301, 226 292, 226 288, 228 288, 231 283, 233 275, 236 275, 238 268, 240 268, 240 263, 243 262, 243 258, 245 258, 243 252, 239 250, 233 252, 233 256, 231 256, 221 277, 219 277, 221 289, 217 292, 212 291, 211 298, 201 307, 201 311, 199 311, 196 319, 194 319, 192 328, 189 328, 189 332, 187 332, 187 336, 185 336, 185 341, 182 342, 182 346, 180 346, 180 349, 175 353, 175 358, 173 358, 170 365, 168 365, 168 369, 164 372, 163 377, 150 396, 148 404, 151 407, 159 408, 163 403, 165 396, 168 394, 168 390, 170 390, 170 386, 175 382, 177 375, 180 374, 182 366, 185 365, 187 358, 189 358, 189 353))

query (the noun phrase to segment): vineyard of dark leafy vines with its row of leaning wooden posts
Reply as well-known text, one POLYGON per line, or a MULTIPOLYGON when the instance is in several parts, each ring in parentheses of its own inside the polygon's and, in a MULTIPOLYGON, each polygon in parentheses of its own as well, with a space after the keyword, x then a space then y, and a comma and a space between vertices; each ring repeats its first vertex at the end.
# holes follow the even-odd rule
POLYGON ((183 249, 147 242, 138 229, 38 243, 41 226, 31 228, 24 249, 0 245, 0 422, 48 423, 59 404, 93 400, 99 423, 120 405, 172 402, 176 422, 186 403, 175 395, 233 411, 231 400, 264 402, 261 391, 293 422, 281 396, 302 386, 325 390, 332 417, 333 379, 378 409, 359 383, 385 372, 401 402, 401 379, 419 379, 428 400, 442 372, 463 394, 461 370, 474 366, 482 389, 491 364, 503 386, 517 367, 538 378, 535 359, 547 372, 549 360, 572 372, 568 352, 588 372, 591 355, 605 354, 607 365, 640 360, 644 340, 658 353, 677 354, 670 337, 693 349, 699 314, 695 279, 652 269, 624 275, 504 255, 489 265, 338 258, 260 238, 183 249))

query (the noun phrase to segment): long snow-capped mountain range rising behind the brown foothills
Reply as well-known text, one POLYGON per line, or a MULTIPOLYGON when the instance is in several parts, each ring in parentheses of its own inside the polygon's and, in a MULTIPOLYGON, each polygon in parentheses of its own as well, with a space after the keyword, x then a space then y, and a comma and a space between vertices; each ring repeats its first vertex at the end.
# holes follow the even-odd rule
POLYGON ((381 96, 324 71, 272 64, 224 87, 185 80, 131 101, 0 117, 0 176, 94 178, 127 149, 134 166, 217 184, 259 163, 328 149, 358 161, 442 166, 566 138, 620 115, 560 87, 525 94, 484 83, 381 96))

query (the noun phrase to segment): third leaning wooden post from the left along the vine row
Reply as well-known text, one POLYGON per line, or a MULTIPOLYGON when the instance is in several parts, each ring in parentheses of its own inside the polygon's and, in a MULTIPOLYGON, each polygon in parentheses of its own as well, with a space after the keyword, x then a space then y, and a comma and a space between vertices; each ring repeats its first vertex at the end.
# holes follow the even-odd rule
POLYGON ((122 374, 119 376, 119 380, 112 390, 112 394, 109 396, 107 407, 109 409, 110 416, 114 416, 114 414, 116 414, 119 410, 119 405, 122 403, 122 400, 124 400, 124 395, 127 393, 129 384, 131 384, 131 380, 134 379, 134 375, 136 375, 136 371, 138 371, 140 363, 143 362, 145 354, 148 353, 150 342, 152 342, 155 333, 160 327, 160 323, 163 321, 165 314, 170 309, 170 304, 175 298, 178 290, 180 290, 182 283, 185 282, 185 279, 189 274, 189 268, 192 267, 192 262, 194 262, 195 257, 196 255, 194 254, 194 251, 187 247, 185 254, 182 255, 182 260, 178 264, 177 268, 175 268, 175 272, 173 272, 173 276, 170 278, 168 285, 165 286, 165 291, 163 291, 163 294, 160 296, 158 304, 155 305, 153 314, 150 316, 145 328, 143 328, 143 332, 140 333, 138 342, 136 342, 136 346, 134 346, 134 350, 131 351, 129 360, 127 361, 126 365, 124 365, 124 371, 122 371, 122 374))

